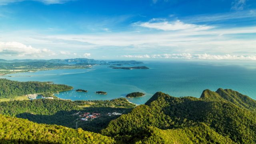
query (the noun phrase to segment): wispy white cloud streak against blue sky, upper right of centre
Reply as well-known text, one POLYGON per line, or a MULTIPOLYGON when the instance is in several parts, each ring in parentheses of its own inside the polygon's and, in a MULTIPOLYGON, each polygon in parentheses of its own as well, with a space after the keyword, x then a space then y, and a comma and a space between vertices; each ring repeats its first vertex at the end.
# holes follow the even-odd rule
POLYGON ((213 26, 206 26, 206 25, 196 25, 196 24, 185 24, 180 20, 176 20, 173 22, 167 22, 163 19, 152 19, 149 22, 138 22, 135 23, 136 26, 142 26, 146 28, 154 28, 158 30, 209 30, 214 28, 213 26))

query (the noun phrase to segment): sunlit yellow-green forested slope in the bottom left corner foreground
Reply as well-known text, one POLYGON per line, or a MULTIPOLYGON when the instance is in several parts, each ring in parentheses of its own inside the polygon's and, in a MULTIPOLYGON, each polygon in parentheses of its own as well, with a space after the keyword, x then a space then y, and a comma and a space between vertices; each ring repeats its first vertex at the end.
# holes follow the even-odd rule
POLYGON ((0 115, 0 143, 112 144, 114 140, 80 128, 36 124, 21 118, 0 115))

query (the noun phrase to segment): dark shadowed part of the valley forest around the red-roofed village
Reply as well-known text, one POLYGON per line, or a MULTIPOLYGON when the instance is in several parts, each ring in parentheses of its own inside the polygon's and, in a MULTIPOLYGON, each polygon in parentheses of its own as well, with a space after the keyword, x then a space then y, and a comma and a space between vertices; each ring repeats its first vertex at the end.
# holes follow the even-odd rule
POLYGON ((76 128, 76 122, 78 122, 78 128, 82 128, 83 130, 90 132, 100 132, 103 128, 106 128, 108 123, 111 120, 118 118, 120 115, 111 115, 107 114, 110 112, 120 112, 123 114, 127 114, 131 109, 127 108, 93 108, 88 107, 82 110, 72 110, 72 111, 64 111, 60 110, 53 115, 44 115, 44 114, 32 114, 32 113, 20 113, 17 114, 16 117, 28 119, 32 122, 42 123, 42 124, 57 124, 61 126, 66 126, 69 128, 76 128), (74 115, 77 112, 85 113, 90 112, 91 114, 96 112, 100 113, 101 116, 99 118, 83 121, 80 120, 79 115, 74 115))

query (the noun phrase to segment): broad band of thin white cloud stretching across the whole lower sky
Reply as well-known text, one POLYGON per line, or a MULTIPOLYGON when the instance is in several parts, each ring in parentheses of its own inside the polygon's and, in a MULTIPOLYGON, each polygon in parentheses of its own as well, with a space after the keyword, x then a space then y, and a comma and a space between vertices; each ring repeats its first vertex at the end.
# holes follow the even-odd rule
MULTIPOLYGON (((137 27, 138 28, 138 27, 137 27)), ((13 39, 35 48, 51 48, 57 52, 58 58, 63 58, 60 51, 70 52, 68 57, 84 57, 81 52, 93 52, 93 58, 128 54, 230 54, 251 55, 256 54, 256 27, 215 27, 209 30, 193 31, 148 31, 141 32, 106 32, 90 34, 60 34, 43 35, 34 32, 11 32, 1 34, 2 41, 13 39), (29 43, 28 43, 29 42, 29 43), (72 48, 72 50, 70 49, 72 48), (74 55, 77 53, 77 55, 74 55)), ((88 56, 88 55, 85 55, 88 56)), ((152 56, 153 57, 153 56, 152 56)), ((157 56, 155 56, 157 57, 157 56)), ((178 56, 177 56, 178 57, 178 56)), ((5 58, 5 57, 2 57, 5 58)), ((16 58, 16 57, 12 57, 16 58)), ((203 57, 201 56, 201 59, 203 57)))

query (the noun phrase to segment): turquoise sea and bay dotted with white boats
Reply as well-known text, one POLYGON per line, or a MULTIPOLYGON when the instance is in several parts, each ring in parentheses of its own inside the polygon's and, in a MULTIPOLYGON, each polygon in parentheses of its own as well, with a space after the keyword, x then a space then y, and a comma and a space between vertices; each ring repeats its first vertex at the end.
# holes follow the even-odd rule
MULTIPOLYGON (((122 70, 109 65, 91 69, 48 70, 10 74, 5 77, 18 81, 52 81, 67 84, 74 90, 60 92, 59 98, 71 100, 110 100, 125 97, 130 92, 144 92, 140 98, 128 98, 144 104, 154 93, 161 91, 171 96, 200 97, 205 89, 230 88, 256 99, 256 64, 228 64, 213 62, 145 62, 150 69, 122 70), (76 89, 88 90, 76 92, 76 89), (105 91, 107 95, 95 94, 105 91)), ((127 65, 130 66, 130 65, 127 65)))

